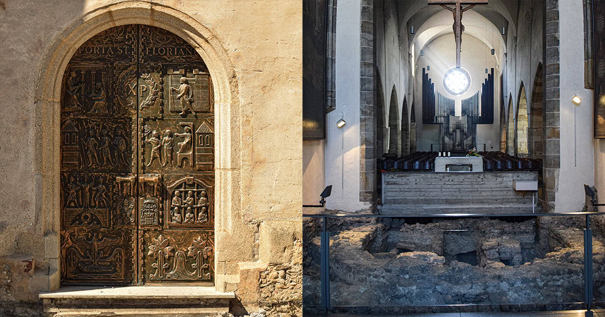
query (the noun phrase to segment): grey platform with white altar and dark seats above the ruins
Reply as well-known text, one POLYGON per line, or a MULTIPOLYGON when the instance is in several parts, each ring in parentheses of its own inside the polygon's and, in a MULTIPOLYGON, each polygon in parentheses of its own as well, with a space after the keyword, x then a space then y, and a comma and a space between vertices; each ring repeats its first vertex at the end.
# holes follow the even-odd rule
POLYGON ((393 167, 380 171, 381 214, 541 211, 537 197, 539 161, 500 152, 489 152, 483 158, 443 158, 436 152, 410 156, 394 160, 393 167), (414 168, 419 166, 422 168, 414 168))

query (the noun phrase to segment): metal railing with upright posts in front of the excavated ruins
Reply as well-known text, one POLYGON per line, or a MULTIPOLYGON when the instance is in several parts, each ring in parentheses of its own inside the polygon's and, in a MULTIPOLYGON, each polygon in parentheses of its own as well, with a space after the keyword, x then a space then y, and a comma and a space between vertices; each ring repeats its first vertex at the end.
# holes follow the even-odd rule
MULTIPOLYGON (((593 270, 592 270, 592 229, 590 229, 590 216, 605 215, 605 213, 538 213, 538 214, 303 214, 302 217, 306 218, 319 218, 321 219, 321 232, 320 232, 320 283, 321 283, 321 294, 320 294, 320 309, 323 313, 327 313, 332 309, 345 308, 355 309, 356 307, 368 307, 368 306, 331 306, 330 305, 330 231, 327 227, 327 220, 333 219, 344 219, 344 218, 465 218, 465 217, 489 217, 489 218, 510 218, 510 217, 569 217, 569 216, 584 216, 584 301, 583 303, 572 303, 581 304, 586 309, 586 316, 592 316, 591 308, 594 301, 593 296, 593 270)), ((560 303, 552 303, 560 304, 560 303)), ((567 303, 571 304, 571 303, 567 303)), ((451 304, 451 305, 437 305, 437 306, 473 306, 473 304, 451 304)))

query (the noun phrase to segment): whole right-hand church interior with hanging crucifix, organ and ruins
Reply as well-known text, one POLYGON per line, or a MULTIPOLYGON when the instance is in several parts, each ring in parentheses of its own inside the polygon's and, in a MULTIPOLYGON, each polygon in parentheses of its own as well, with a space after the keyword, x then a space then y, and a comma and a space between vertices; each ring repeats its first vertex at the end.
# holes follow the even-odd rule
POLYGON ((304 311, 602 308, 601 4, 320 2, 303 7, 304 311))

